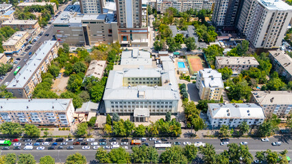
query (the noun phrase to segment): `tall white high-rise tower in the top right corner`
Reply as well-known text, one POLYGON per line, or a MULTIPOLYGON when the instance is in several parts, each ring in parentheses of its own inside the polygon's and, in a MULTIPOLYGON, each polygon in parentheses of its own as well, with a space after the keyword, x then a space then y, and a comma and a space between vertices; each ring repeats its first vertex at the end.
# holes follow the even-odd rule
POLYGON ((255 48, 278 48, 290 23, 292 6, 284 1, 257 0, 252 8, 254 10, 248 22, 247 39, 255 48))

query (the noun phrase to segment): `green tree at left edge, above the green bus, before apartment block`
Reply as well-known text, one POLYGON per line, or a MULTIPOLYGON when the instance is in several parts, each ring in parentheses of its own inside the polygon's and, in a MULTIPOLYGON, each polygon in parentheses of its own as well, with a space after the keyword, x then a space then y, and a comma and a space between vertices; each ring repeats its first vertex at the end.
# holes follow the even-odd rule
POLYGON ((9 135, 10 137, 18 137, 23 133, 23 128, 19 123, 14 122, 4 122, 0 125, 0 131, 4 135, 9 135))

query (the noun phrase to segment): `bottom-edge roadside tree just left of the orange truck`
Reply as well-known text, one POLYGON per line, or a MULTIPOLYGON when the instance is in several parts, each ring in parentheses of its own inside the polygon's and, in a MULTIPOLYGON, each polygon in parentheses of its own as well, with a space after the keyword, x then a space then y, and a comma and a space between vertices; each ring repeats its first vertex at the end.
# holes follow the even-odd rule
POLYGON ((111 163, 130 163, 130 154, 123 148, 112 149, 108 153, 111 163))

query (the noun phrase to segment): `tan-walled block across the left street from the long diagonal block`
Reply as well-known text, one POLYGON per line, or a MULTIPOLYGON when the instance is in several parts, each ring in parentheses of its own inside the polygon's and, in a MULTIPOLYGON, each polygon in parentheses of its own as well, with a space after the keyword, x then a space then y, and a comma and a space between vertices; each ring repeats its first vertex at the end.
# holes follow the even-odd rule
POLYGON ((27 31, 16 31, 6 42, 2 44, 5 54, 18 54, 29 41, 30 34, 27 31))

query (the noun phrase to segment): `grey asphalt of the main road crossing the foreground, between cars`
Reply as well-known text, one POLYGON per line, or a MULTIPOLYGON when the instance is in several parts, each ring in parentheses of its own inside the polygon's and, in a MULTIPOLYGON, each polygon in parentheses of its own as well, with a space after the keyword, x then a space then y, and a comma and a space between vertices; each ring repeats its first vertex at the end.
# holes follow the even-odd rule
MULTIPOLYGON (((287 156, 292 156, 292 149, 289 144, 291 137, 286 136, 286 137, 271 137, 269 138, 269 142, 262 142, 260 139, 230 139, 230 143, 240 143, 241 141, 247 141, 248 142, 248 147, 250 148, 250 152, 255 155, 256 152, 258 151, 265 151, 267 149, 271 149, 272 151, 280 152, 284 149, 288 150, 287 156), (282 146, 271 146, 271 142, 273 141, 281 141, 282 146)), ((171 141, 172 143, 174 141, 180 141, 183 143, 184 141, 190 141, 191 143, 194 143, 196 141, 202 141, 203 143, 210 143, 212 144, 217 153, 223 152, 223 150, 228 150, 227 146, 220 146, 220 141, 219 139, 169 139, 168 141, 171 141)), ((32 141, 32 143, 35 143, 36 141, 32 141)), ((121 143, 121 140, 118 140, 119 143, 121 143)), ((154 141, 145 141, 150 144, 150 146, 154 146, 154 141)), ((24 143, 22 143, 22 149, 24 148, 24 143)), ((51 142, 53 143, 53 142, 51 142)), ((60 144, 60 143, 58 143, 60 144)), ((72 146, 73 142, 68 142, 68 146, 72 146)), ((90 145, 90 142, 88 142, 88 145, 90 145)), ((110 146, 110 142, 107 140, 107 146, 110 146)), ((94 161, 95 160, 95 152, 96 150, 93 150, 93 146, 90 146, 90 150, 82 150, 82 146, 75 146, 75 150, 66 150, 67 146, 64 146, 64 150, 47 150, 49 146, 45 146, 45 150, 36 150, 37 146, 34 146, 34 150, 12 150, 13 146, 11 146, 10 150, 1 150, 1 154, 6 154, 10 152, 15 152, 16 154, 21 154, 21 153, 31 153, 35 156, 35 159, 38 161, 40 157, 45 156, 45 155, 50 155, 53 158, 56 159, 56 162, 64 163, 66 161, 66 157, 69 154, 73 154, 75 152, 80 152, 86 156, 86 159, 88 162, 94 161)), ((131 147, 128 146, 129 150, 128 152, 132 152, 131 147)), ((108 150, 110 151, 110 150, 108 150)), ((158 150, 158 153, 161 154, 164 150, 158 150)), ((199 156, 201 156, 199 154, 199 156)))

